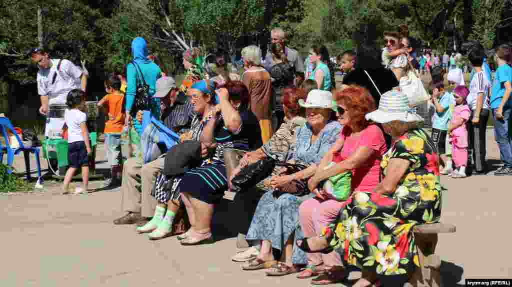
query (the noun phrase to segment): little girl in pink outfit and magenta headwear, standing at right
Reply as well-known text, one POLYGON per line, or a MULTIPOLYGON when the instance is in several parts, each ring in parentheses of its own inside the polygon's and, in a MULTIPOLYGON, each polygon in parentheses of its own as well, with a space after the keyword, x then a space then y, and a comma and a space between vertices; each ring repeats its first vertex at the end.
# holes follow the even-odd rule
POLYGON ((453 91, 456 106, 448 127, 450 142, 452 143, 452 160, 455 164, 451 176, 453 178, 463 178, 466 177, 467 165, 466 122, 471 116, 470 107, 466 104, 466 97, 470 91, 465 86, 457 86, 453 91))

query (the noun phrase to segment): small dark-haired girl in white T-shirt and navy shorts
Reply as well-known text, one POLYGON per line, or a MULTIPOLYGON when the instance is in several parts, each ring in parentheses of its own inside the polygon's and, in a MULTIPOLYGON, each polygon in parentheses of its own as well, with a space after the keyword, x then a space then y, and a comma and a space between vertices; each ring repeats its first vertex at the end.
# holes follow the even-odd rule
POLYGON ((73 89, 68 93, 66 105, 68 109, 64 113, 64 121, 68 127, 68 159, 70 167, 64 177, 64 194, 70 193, 69 183, 76 170, 82 169, 83 188, 76 187, 75 194, 87 192, 89 184, 89 155, 91 154, 91 143, 89 142, 89 131, 87 130, 87 115, 83 107, 86 104, 86 93, 80 89, 73 89), (86 140, 87 139, 87 140, 86 140))

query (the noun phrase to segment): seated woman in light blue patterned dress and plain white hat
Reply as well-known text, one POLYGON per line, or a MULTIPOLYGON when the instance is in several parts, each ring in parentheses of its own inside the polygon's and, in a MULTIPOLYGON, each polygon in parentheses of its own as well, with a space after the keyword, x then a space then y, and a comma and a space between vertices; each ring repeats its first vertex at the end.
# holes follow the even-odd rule
POLYGON ((334 121, 335 106, 331 92, 312 90, 306 103, 300 100, 299 104, 306 108, 308 122, 295 130, 296 142, 293 154, 288 159, 308 167, 293 174, 272 177, 272 190, 258 203, 246 236, 247 240, 261 240, 261 251, 243 266, 244 270, 274 266, 274 270, 267 274, 285 275, 297 271, 293 264, 306 263, 304 253, 300 250, 293 251, 293 260, 290 252, 293 247, 292 235, 299 225, 298 206, 308 197, 306 180, 314 174, 322 155, 336 141, 341 126, 334 121), (272 248, 285 252, 284 263, 276 264, 272 248))

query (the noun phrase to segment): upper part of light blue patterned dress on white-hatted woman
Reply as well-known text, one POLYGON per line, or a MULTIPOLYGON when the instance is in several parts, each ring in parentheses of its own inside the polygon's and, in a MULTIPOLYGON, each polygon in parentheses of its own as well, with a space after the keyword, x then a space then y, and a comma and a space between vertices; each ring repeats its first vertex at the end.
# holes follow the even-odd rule
POLYGON ((341 130, 342 125, 332 121, 322 129, 316 140, 311 142, 313 131, 309 123, 296 128, 295 145, 292 147, 292 153, 288 156, 288 159, 305 165, 318 164, 324 154, 334 145, 341 130))

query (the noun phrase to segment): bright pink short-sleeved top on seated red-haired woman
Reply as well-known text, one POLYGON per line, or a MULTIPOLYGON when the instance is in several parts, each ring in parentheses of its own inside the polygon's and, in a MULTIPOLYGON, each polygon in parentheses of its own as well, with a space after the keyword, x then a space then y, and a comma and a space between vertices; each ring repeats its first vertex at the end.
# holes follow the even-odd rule
POLYGON ((334 162, 347 159, 359 147, 376 151, 366 163, 352 170, 352 190, 372 192, 380 181, 380 160, 386 153, 386 140, 382 130, 376 125, 370 125, 358 136, 352 136, 351 129, 345 126, 339 136, 344 138, 344 143, 341 151, 333 153, 334 162))

